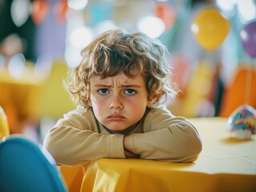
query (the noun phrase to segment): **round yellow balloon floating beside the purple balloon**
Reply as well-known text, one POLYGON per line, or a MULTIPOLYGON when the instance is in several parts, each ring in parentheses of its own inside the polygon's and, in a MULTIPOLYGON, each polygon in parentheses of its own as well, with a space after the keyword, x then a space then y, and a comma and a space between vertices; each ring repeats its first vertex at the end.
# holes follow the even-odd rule
POLYGON ((197 42, 205 50, 215 50, 230 32, 230 22, 217 8, 205 8, 198 12, 193 20, 191 30, 197 42))

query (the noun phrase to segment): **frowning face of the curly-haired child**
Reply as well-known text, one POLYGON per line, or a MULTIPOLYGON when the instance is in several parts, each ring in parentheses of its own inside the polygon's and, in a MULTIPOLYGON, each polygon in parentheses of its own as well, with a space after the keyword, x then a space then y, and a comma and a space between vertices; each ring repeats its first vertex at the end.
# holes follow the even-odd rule
POLYGON ((151 106, 144 78, 128 78, 123 73, 114 77, 91 78, 91 102, 95 118, 109 130, 126 130, 139 122, 146 106, 151 106))

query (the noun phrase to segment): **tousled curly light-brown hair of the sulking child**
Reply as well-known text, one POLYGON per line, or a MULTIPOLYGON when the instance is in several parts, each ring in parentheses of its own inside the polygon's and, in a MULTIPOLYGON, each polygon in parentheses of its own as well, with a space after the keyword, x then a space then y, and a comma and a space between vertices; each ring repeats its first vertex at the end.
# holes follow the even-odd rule
POLYGON ((133 78, 141 74, 148 99, 155 98, 153 106, 157 106, 163 95, 177 93, 169 82, 172 68, 168 54, 160 41, 146 34, 109 30, 81 51, 82 62, 70 71, 64 84, 76 104, 89 107, 92 77, 104 79, 123 72, 133 78))

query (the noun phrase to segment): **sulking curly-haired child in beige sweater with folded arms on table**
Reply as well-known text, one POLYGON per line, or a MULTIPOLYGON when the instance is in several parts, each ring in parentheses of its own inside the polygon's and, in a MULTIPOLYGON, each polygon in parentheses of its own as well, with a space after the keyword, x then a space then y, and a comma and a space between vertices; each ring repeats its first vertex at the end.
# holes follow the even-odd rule
POLYGON ((169 84, 168 52, 141 33, 112 30, 85 47, 66 85, 78 103, 49 131, 43 146, 59 165, 98 158, 191 162, 201 138, 185 118, 160 99, 176 94, 169 84))

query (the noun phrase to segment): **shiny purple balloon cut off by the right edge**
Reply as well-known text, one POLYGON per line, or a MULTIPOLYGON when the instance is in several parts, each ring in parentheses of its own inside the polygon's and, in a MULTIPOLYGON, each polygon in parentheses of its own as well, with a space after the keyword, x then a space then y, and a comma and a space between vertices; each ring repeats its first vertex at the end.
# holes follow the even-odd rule
POLYGON ((256 57, 256 20, 250 22, 241 31, 242 46, 250 57, 256 57))

